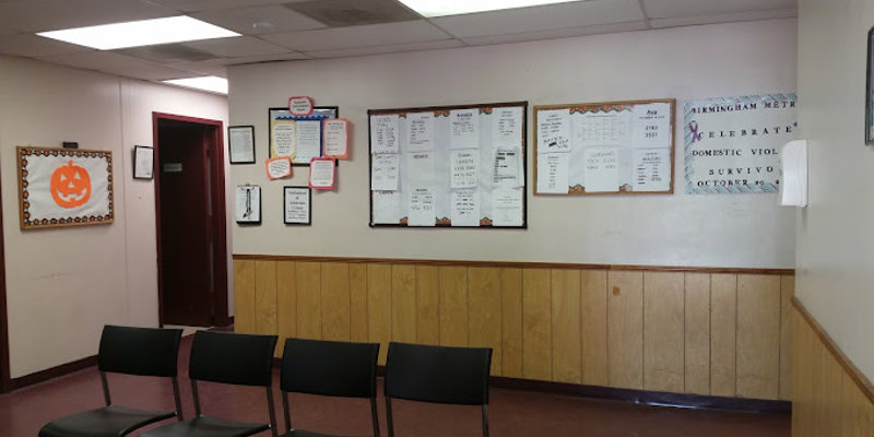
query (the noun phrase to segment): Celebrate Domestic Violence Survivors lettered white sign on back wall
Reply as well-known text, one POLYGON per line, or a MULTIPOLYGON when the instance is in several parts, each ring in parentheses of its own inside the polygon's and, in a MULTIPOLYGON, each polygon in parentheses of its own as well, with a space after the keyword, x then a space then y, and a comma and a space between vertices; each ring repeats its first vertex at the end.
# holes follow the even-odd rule
POLYGON ((795 93, 684 104, 686 192, 778 192, 780 149, 795 139, 795 93))

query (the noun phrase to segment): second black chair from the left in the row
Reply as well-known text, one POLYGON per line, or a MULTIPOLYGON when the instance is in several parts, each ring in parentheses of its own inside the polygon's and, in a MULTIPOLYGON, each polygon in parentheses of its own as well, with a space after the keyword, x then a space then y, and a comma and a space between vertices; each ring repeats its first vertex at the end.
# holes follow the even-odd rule
POLYGON ((276 435, 273 412, 272 364, 276 335, 198 331, 191 344, 191 395, 194 418, 143 433, 141 437, 244 437, 270 429, 276 435), (200 409, 198 381, 263 387, 270 423, 247 423, 205 416, 200 409))

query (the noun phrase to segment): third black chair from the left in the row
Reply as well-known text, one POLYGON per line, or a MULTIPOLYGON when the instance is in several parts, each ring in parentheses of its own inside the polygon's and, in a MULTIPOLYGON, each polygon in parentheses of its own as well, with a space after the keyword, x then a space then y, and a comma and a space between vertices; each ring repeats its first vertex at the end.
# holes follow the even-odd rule
POLYGON ((288 339, 282 356, 282 408, 286 433, 282 437, 327 437, 292 428, 288 392, 370 399, 373 432, 379 437, 376 414, 376 358, 379 343, 350 343, 288 339))

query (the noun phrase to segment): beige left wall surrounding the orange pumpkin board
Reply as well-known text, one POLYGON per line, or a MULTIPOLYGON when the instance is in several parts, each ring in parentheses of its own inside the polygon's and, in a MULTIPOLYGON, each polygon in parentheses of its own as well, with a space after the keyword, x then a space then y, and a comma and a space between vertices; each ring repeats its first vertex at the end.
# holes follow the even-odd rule
POLYGON ((223 96, 0 57, 0 173, 13 378, 90 356, 105 323, 157 324, 152 181, 131 177, 152 111, 227 123, 223 96), (22 232, 16 145, 113 151, 116 222, 22 232))

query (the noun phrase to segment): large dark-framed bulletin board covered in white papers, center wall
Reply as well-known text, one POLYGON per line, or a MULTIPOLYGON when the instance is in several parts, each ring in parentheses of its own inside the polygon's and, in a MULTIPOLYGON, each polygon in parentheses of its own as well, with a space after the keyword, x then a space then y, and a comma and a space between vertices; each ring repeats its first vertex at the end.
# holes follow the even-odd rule
POLYGON ((528 102, 370 109, 370 226, 525 228, 528 102))

